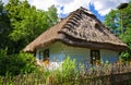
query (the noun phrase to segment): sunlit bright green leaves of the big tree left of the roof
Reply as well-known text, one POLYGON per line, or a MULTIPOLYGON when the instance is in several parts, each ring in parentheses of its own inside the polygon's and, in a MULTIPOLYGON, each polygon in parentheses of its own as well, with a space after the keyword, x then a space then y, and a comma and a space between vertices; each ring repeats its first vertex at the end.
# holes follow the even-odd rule
POLYGON ((28 38, 28 41, 31 41, 57 23, 55 7, 49 8, 49 11, 45 12, 27 7, 27 1, 23 1, 16 7, 12 5, 12 8, 7 9, 13 20, 11 23, 13 32, 10 34, 10 37, 15 41, 24 38, 28 38), (13 12, 12 9, 14 9, 13 12))

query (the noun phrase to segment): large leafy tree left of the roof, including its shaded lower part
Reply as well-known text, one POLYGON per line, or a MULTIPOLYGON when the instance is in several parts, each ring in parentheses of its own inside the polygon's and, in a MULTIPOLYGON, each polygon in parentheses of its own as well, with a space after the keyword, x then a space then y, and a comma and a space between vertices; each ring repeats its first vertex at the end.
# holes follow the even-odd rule
POLYGON ((49 8, 48 11, 41 11, 31 7, 26 0, 9 0, 5 10, 11 21, 10 45, 8 46, 10 53, 17 53, 38 35, 57 23, 55 7, 49 8))

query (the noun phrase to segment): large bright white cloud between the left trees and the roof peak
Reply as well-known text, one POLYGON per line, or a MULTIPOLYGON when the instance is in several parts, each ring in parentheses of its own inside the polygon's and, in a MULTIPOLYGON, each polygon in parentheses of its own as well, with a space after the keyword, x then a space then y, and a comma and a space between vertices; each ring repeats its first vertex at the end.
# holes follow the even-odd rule
POLYGON ((80 7, 90 9, 90 2, 91 0, 32 0, 31 4, 43 10, 48 10, 50 5, 55 4, 58 10, 58 15, 60 15, 61 13, 69 14, 80 7), (61 10, 61 8, 63 9, 61 10))

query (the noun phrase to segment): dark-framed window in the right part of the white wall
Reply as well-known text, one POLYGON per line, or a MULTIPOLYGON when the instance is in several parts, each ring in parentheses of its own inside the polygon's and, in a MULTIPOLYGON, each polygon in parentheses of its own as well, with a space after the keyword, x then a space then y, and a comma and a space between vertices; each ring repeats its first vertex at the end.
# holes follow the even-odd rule
POLYGON ((99 50, 91 50, 91 64, 100 64, 100 53, 99 50))

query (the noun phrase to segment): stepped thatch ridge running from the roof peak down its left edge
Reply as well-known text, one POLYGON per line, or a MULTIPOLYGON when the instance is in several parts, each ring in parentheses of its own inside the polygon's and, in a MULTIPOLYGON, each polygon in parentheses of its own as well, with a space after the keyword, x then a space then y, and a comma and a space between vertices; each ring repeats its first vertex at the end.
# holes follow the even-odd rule
POLYGON ((69 20, 62 26, 60 33, 61 32, 64 33, 62 29, 72 31, 73 28, 79 27, 80 26, 80 21, 82 20, 82 14, 90 15, 90 16, 96 19, 96 16, 91 11, 88 11, 87 9, 85 9, 83 7, 80 7, 80 9, 70 13, 70 15, 69 15, 70 17, 68 16, 69 20))

